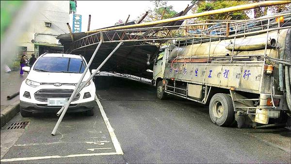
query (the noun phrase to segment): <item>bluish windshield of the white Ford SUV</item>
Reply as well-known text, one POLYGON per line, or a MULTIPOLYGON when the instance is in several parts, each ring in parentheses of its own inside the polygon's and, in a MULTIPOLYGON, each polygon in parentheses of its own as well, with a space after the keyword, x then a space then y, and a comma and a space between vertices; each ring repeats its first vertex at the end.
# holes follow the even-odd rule
POLYGON ((33 70, 41 72, 83 73, 85 61, 77 58, 42 57, 35 63, 33 70))

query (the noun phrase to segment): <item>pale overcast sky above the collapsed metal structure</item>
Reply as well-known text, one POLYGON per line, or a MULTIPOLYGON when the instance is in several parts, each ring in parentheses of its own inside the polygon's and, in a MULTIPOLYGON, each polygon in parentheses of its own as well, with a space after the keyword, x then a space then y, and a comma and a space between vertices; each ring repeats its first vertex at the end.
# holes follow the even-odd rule
MULTIPOLYGON (((180 12, 187 5, 191 5, 192 0, 168 0, 168 5, 172 5, 174 10, 180 12)), ((137 16, 145 14, 153 9, 153 3, 149 0, 77 0, 76 14, 82 15, 82 32, 87 31, 88 18, 91 14, 90 30, 113 26, 119 19, 125 21, 134 20, 137 16)), ((191 11, 188 12, 191 14, 191 11)), ((72 14, 70 24, 72 27, 72 14)))

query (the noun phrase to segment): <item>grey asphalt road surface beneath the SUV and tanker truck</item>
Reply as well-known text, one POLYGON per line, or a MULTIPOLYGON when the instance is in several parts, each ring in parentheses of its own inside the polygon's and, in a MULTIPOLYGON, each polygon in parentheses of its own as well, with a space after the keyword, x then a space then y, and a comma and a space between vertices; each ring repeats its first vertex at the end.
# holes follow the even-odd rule
POLYGON ((159 100, 149 84, 105 77, 96 85, 109 121, 96 106, 91 117, 66 114, 51 136, 58 117, 16 115, 10 123, 30 123, 26 129, 3 127, 1 163, 291 163, 290 130, 219 127, 208 106, 159 100), (116 153, 115 139, 123 155, 116 153))

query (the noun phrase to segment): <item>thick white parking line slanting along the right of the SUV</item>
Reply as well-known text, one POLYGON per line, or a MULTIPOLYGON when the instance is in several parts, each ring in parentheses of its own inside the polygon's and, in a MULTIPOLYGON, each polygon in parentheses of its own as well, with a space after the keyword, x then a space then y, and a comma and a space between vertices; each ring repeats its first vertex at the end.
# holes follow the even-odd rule
POLYGON ((105 124, 106 124, 106 127, 107 127, 108 131, 109 131, 109 134, 110 134, 110 137, 111 137, 111 140, 112 140, 113 146, 114 146, 114 148, 115 148, 115 150, 116 150, 116 153, 117 153, 117 154, 121 154, 121 155, 123 155, 123 151, 122 151, 122 149, 121 149, 121 146, 120 146, 120 144, 119 144, 119 142, 118 142, 118 140, 117 140, 117 138, 116 138, 116 135, 115 135, 115 133, 114 133, 114 131, 113 131, 113 128, 112 128, 112 126, 110 125, 110 122, 109 122, 109 120, 108 120, 108 118, 107 118, 107 116, 106 116, 106 114, 105 114, 105 112, 104 112, 104 109, 103 109, 103 107, 102 107, 102 105, 101 105, 101 103, 100 103, 100 101, 99 101, 99 99, 97 98, 96 95, 95 95, 95 98, 96 98, 96 102, 97 102, 97 104, 98 104, 99 110, 100 110, 100 112, 101 112, 101 115, 102 115, 102 117, 103 117, 103 120, 104 120, 104 122, 105 122, 105 124))

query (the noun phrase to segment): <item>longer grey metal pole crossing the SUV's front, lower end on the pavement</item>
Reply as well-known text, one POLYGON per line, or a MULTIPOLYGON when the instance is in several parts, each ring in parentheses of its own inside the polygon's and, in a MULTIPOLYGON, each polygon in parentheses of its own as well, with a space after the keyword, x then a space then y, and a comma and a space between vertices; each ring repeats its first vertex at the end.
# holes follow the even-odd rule
POLYGON ((52 135, 52 136, 55 135, 55 133, 56 133, 56 131, 57 131, 57 129, 58 129, 60 123, 62 122, 62 120, 63 120, 63 118, 64 118, 64 116, 65 116, 65 113, 66 113, 66 111, 67 111, 67 109, 68 109, 68 107, 69 107, 71 101, 72 101, 73 98, 75 97, 76 92, 77 92, 77 89, 79 88, 79 86, 80 86, 80 84, 81 84, 81 82, 82 82, 82 80, 83 80, 83 78, 84 78, 84 76, 85 76, 87 70, 89 69, 89 66, 91 65, 91 63, 92 63, 92 61, 93 61, 93 59, 94 59, 94 56, 96 55, 96 53, 97 53, 99 47, 101 46, 101 44, 102 44, 102 40, 100 40, 100 42, 99 42, 99 44, 98 44, 96 50, 94 51, 94 53, 93 53, 93 55, 92 55, 92 57, 91 57, 91 59, 90 59, 90 62, 89 62, 89 64, 86 66, 85 71, 83 72, 83 74, 82 74, 82 76, 81 76, 81 78, 80 78, 80 80, 79 80, 79 82, 78 82, 78 84, 77 84, 77 86, 76 86, 74 92, 72 93, 70 99, 68 100, 68 103, 65 105, 65 107, 61 108, 61 110, 58 112, 58 114, 59 114, 60 112, 62 112, 62 110, 64 110, 64 112, 62 112, 62 115, 61 115, 60 118, 58 119, 58 122, 56 123, 55 127, 53 128, 53 130, 52 130, 52 132, 51 132, 51 135, 52 135))

